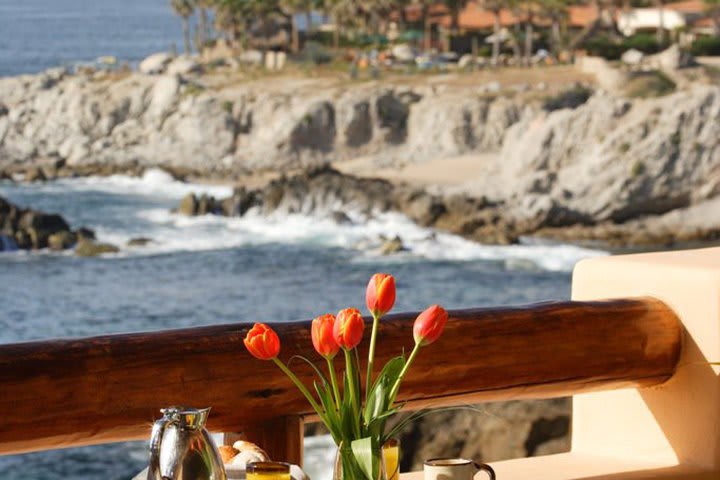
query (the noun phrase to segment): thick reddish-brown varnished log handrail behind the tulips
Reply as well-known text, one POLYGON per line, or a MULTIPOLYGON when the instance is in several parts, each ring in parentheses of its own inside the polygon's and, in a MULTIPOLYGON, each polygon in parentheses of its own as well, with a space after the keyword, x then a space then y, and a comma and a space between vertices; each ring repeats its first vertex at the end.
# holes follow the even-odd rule
MULTIPOLYGON (((378 362, 412 347, 415 316, 382 321, 378 362)), ((317 358, 309 322, 274 326, 283 359, 317 358)), ((308 405, 272 362, 245 351, 247 328, 0 345, 0 453, 148 438, 158 409, 168 405, 212 406, 215 431, 269 426, 280 433, 278 424, 290 425, 293 438, 284 445, 297 450, 308 405)), ((651 298, 452 311, 443 337, 419 355, 400 400, 412 408, 647 387, 673 374, 680 343, 677 317, 651 298)), ((292 367, 309 385, 310 368, 300 361, 292 367)), ((282 445, 272 449, 283 452, 282 445)))

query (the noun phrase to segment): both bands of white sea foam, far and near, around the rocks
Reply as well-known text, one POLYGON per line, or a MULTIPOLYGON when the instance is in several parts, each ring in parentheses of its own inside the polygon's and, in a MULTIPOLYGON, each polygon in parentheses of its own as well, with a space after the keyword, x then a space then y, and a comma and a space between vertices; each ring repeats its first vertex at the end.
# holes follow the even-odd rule
MULTIPOLYGON (((152 255, 177 251, 203 251, 264 243, 304 244, 356 250, 356 261, 374 261, 381 253, 383 238, 399 237, 405 251, 383 257, 384 262, 415 259, 446 261, 487 260, 504 263, 512 269, 569 271, 585 257, 604 252, 570 245, 483 245, 457 235, 420 227, 398 213, 381 213, 370 219, 348 212, 351 224, 338 224, 330 218, 312 215, 263 216, 248 212, 244 217, 227 218, 207 215, 186 217, 171 213, 160 204, 176 204, 189 192, 207 193, 217 198, 232 193, 229 186, 188 184, 166 172, 151 169, 142 177, 114 175, 64 179, 34 185, 38 192, 96 191, 148 198, 148 207, 126 215, 137 221, 106 222, 92 225, 104 242, 125 245, 134 237, 149 237, 153 242, 141 247, 124 248, 114 256, 152 255), (155 206, 150 206, 154 204, 155 206), (108 225, 117 224, 117 227, 108 225), (120 226, 121 225, 121 226, 120 226)), ((119 213, 113 212, 114 215, 119 213)))

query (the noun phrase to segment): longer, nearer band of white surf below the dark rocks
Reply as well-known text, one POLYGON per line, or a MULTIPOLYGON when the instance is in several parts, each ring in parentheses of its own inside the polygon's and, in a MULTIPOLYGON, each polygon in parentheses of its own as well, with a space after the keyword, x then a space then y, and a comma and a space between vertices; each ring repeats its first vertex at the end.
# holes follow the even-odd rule
POLYGON ((330 219, 306 215, 261 216, 250 212, 244 217, 186 217, 164 209, 138 212, 154 225, 145 232, 100 230, 99 236, 118 244, 132 236, 144 235, 155 240, 134 248, 135 254, 172 251, 214 250, 262 243, 306 244, 356 249, 358 261, 377 258, 385 238, 398 236, 406 251, 384 257, 386 261, 410 261, 414 258, 505 262, 511 268, 568 271, 580 259, 604 252, 570 245, 490 246, 456 235, 422 228, 396 213, 375 216, 364 223, 338 225, 330 219))

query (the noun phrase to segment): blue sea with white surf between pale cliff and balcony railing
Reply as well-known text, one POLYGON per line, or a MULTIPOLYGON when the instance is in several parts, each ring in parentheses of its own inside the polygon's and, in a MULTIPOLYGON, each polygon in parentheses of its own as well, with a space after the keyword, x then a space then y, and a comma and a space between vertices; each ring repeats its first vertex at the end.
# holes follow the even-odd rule
MULTIPOLYGON (((302 216, 172 214, 189 191, 223 196, 230 188, 183 184, 159 170, 142 178, 0 182, 0 196, 58 212, 74 227, 95 229, 101 241, 154 240, 101 258, 0 253, 0 343, 311 318, 362 307, 376 271, 396 276, 398 310, 567 299, 574 263, 603 254, 563 245, 484 246, 397 215, 339 226, 302 216), (384 257, 368 250, 380 233, 400 235, 409 251, 384 257)), ((311 441, 307 463, 328 465, 328 452, 321 439, 311 441)), ((0 478, 128 479, 146 461, 142 442, 5 456, 0 478)))

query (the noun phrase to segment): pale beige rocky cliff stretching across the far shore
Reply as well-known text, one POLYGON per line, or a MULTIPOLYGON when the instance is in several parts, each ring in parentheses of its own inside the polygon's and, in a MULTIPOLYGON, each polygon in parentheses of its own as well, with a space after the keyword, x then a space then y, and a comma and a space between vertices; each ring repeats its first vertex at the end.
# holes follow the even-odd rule
POLYGON ((161 166, 242 183, 358 158, 359 176, 442 169, 464 155, 473 174, 445 188, 443 203, 467 216, 457 195, 482 199, 477 210, 498 227, 447 228, 476 240, 671 244, 720 233, 709 214, 720 192, 718 86, 647 99, 588 90, 558 103, 577 87, 223 78, 54 69, 0 79, 0 169, 45 165, 52 177, 161 166))

